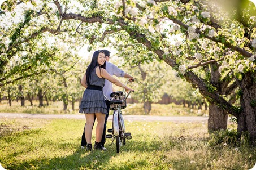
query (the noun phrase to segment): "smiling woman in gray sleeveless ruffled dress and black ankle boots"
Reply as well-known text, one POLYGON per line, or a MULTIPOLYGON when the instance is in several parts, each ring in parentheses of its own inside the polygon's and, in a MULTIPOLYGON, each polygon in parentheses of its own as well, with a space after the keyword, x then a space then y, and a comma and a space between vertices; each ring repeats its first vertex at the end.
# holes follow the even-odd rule
POLYGON ((105 115, 107 114, 107 105, 105 103, 102 88, 105 85, 105 79, 116 84, 116 86, 124 87, 126 91, 134 91, 133 89, 124 86, 119 80, 111 77, 106 69, 106 57, 103 51, 95 51, 93 53, 92 61, 88 66, 86 73, 81 80, 82 86, 86 88, 84 91, 83 99, 79 106, 79 113, 85 113, 86 126, 86 150, 92 151, 92 128, 94 117, 97 118, 96 126, 96 141, 94 149, 103 150, 101 145, 101 137, 103 133, 105 115))

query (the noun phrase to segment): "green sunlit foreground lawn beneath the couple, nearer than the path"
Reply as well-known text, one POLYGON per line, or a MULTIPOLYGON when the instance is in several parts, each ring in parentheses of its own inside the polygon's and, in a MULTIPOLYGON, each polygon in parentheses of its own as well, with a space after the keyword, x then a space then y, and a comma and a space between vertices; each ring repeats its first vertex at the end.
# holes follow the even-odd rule
MULTIPOLYGON (((5 169, 251 169, 256 161, 255 147, 209 145, 207 124, 202 122, 125 120, 133 138, 119 154, 110 139, 105 152, 81 149, 84 120, 0 118, 0 122, 0 163, 5 169)), ((93 141, 94 137, 93 133, 93 141)))

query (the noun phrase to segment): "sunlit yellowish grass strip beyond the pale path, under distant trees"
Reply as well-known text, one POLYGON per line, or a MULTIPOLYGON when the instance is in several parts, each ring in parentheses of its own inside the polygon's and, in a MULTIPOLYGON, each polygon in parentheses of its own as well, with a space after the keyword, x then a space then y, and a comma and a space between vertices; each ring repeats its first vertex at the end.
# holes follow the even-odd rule
MULTIPOLYGON (((2 101, 0 104, 0 113, 43 113, 43 114, 75 114, 78 113, 79 102, 75 103, 75 110, 71 109, 71 104, 68 105, 66 111, 63 110, 63 103, 49 102, 49 106, 38 107, 38 101, 33 101, 34 106, 29 106, 29 102, 25 101, 25 106, 20 106, 20 102, 13 101, 12 106, 9 106, 7 101, 2 101)), ((143 104, 127 104, 127 108, 123 110, 123 114, 126 115, 144 115, 143 104)), ((202 116, 208 115, 207 110, 196 110, 190 108, 184 108, 183 105, 176 104, 152 104, 152 110, 149 115, 180 115, 180 116, 202 116)))

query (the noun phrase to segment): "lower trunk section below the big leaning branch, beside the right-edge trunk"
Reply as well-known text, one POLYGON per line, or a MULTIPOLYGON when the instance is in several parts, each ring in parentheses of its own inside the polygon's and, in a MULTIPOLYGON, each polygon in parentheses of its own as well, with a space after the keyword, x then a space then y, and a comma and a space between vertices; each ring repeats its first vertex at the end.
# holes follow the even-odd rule
POLYGON ((208 131, 227 129, 228 113, 215 104, 209 105, 208 131))

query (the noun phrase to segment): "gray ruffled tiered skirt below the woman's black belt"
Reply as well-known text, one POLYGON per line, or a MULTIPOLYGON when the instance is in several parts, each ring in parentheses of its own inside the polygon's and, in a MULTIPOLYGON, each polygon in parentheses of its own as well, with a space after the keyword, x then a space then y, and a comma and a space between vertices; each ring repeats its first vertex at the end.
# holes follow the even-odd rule
POLYGON ((85 89, 79 106, 79 113, 107 113, 107 105, 102 91, 85 89))

